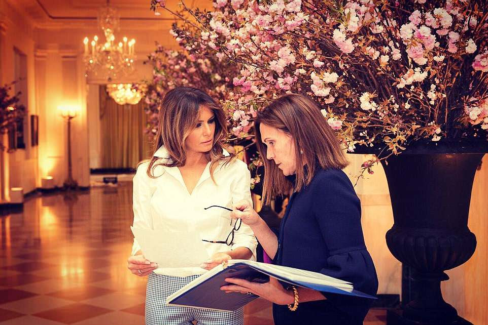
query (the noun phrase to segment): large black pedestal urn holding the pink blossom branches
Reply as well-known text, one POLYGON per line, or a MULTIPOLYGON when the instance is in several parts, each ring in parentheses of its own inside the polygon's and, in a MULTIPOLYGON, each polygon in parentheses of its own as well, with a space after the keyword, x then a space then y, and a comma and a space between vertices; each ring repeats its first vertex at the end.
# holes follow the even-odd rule
POLYGON ((468 213, 474 175, 485 152, 486 141, 415 143, 381 161, 394 218, 387 245, 411 270, 413 285, 413 300, 390 310, 388 324, 470 324, 444 301, 440 281, 449 278, 445 270, 465 263, 475 251, 468 213))

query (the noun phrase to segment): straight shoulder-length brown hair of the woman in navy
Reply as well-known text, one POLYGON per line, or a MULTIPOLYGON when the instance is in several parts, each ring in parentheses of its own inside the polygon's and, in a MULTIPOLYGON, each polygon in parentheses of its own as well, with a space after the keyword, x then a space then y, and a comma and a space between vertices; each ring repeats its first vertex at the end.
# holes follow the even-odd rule
POLYGON ((266 159, 259 126, 265 124, 282 130, 295 141, 295 191, 310 184, 317 169, 343 169, 348 165, 334 132, 327 124, 319 106, 310 98, 289 94, 282 96, 258 112, 255 121, 256 144, 264 159, 263 198, 265 204, 276 195, 288 194, 292 183, 273 160, 266 159), (302 153, 303 152, 303 153, 302 153))

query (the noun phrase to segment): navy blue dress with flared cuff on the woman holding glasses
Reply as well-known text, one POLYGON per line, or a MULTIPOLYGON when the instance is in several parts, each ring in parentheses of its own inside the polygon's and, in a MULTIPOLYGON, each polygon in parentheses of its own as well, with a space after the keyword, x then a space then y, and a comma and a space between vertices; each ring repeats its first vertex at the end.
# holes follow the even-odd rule
MULTIPOLYGON (((295 181, 295 175, 287 178, 295 181)), ((308 186, 292 194, 273 262, 350 281, 354 289, 376 294, 378 279, 364 245, 361 204, 344 172, 320 169, 308 186)), ((362 324, 372 302, 323 294, 326 300, 300 303, 296 311, 273 304, 275 324, 362 324)))

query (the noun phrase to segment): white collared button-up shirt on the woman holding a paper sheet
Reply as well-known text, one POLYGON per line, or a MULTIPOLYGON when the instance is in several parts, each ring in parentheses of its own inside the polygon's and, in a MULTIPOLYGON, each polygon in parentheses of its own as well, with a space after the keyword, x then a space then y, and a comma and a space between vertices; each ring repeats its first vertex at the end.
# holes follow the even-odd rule
MULTIPOLYGON (((229 153, 224 150, 224 155, 229 153)), ((164 146, 154 156, 157 163, 170 162, 169 153, 164 146)), ((156 165, 155 164, 155 165, 156 165)), ((204 210, 218 205, 231 208, 232 204, 245 199, 252 204, 251 174, 245 162, 234 159, 229 164, 221 162, 214 171, 215 183, 210 175, 210 162, 205 167, 198 183, 190 194, 178 167, 156 166, 155 179, 147 175, 149 161, 139 165, 133 178, 134 227, 146 229, 169 229, 184 231, 195 229, 201 239, 226 240, 232 230, 230 212, 220 208, 204 210)), ((202 241, 202 246, 212 256, 215 253, 246 247, 256 259, 257 240, 251 228, 241 224, 234 232, 233 245, 202 241)), ((132 254, 141 250, 134 238, 132 254)), ((144 252, 143 252, 144 253, 144 252)), ((202 263, 205 262, 202 260, 202 263)), ((203 274, 206 270, 198 267, 159 268, 155 273, 172 276, 203 274)))

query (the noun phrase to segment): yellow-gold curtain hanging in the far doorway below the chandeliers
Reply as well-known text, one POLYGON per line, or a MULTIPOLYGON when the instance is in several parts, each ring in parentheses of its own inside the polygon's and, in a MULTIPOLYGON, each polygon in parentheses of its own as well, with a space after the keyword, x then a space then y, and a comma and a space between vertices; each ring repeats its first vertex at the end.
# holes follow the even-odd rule
POLYGON ((105 89, 100 86, 102 168, 135 168, 151 155, 143 103, 119 105, 105 89))

